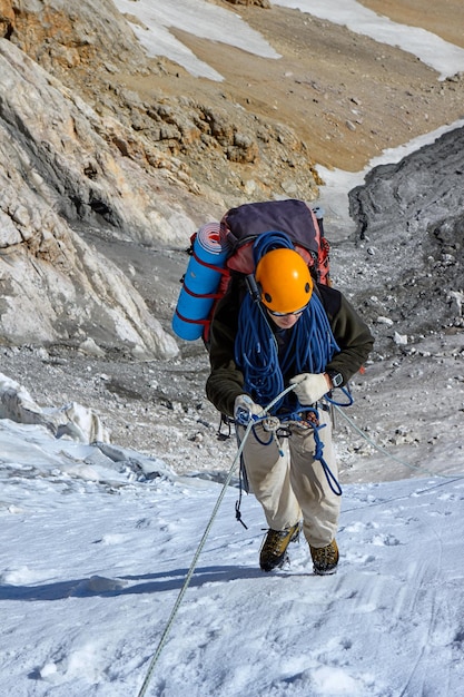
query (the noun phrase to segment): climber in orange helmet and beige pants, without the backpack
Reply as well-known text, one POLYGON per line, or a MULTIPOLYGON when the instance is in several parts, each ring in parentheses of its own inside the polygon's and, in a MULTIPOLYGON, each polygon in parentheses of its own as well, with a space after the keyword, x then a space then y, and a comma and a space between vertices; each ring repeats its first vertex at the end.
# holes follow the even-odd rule
POLYGON ((268 249, 255 281, 255 300, 234 278, 217 305, 206 393, 235 419, 239 442, 254 422, 241 465, 268 524, 260 568, 282 567, 303 527, 314 572, 334 573, 342 490, 334 485, 337 463, 324 396, 362 367, 373 337, 339 291, 313 282, 294 248, 268 249))

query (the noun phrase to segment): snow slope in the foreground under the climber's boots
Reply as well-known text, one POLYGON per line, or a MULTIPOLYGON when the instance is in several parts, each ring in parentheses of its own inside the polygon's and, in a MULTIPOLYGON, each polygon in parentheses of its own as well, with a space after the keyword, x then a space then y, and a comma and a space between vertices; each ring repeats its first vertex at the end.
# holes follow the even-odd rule
MULTIPOLYGON (((136 697, 221 485, 39 425, 2 420, 0 444, 0 694, 136 697)), ((463 477, 346 487, 340 566, 325 578, 303 540, 288 568, 261 572, 261 512, 246 497, 248 530, 237 523, 237 493, 147 695, 462 694, 463 477)))

